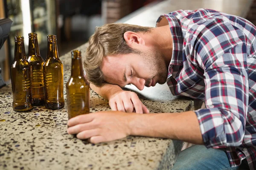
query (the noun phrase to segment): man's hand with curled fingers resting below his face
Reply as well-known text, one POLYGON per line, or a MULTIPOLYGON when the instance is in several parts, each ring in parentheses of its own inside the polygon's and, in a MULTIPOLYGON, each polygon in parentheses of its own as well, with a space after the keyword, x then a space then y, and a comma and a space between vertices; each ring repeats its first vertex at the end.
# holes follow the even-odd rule
POLYGON ((112 111, 149 113, 148 108, 143 105, 136 93, 131 91, 118 91, 109 98, 112 111))

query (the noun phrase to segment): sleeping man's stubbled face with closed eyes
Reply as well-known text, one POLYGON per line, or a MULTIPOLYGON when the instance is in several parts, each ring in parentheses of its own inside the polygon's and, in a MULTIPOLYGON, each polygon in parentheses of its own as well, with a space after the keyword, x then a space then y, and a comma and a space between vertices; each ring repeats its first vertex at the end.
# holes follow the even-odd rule
POLYGON ((156 83, 164 84, 168 74, 162 54, 153 49, 141 51, 140 54, 104 57, 101 69, 106 82, 120 87, 133 84, 139 90, 156 83))

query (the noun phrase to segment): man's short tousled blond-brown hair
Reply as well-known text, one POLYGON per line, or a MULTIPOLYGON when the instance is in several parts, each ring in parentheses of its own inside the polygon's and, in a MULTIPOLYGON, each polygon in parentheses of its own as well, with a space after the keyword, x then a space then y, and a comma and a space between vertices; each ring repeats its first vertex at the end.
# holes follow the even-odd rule
POLYGON ((117 54, 140 53, 140 51, 127 45, 124 39, 126 31, 145 33, 150 31, 150 29, 151 27, 124 23, 111 23, 96 27, 95 33, 89 39, 89 46, 84 60, 84 68, 88 81, 96 86, 101 86, 105 82, 104 74, 100 69, 103 57, 117 54))

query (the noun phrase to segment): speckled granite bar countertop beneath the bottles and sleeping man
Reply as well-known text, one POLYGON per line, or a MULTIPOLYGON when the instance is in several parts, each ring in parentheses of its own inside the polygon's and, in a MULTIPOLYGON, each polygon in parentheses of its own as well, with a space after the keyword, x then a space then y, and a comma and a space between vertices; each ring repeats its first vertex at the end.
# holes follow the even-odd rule
MULTIPOLYGON (((185 8, 183 5, 188 4, 185 1, 188 0, 180 0, 179 3, 168 0, 151 8, 144 8, 139 15, 135 13, 134 17, 122 22, 154 26, 160 13, 185 8)), ((204 6, 211 8, 206 1, 201 0, 204 6)), ((217 1, 211 4, 219 6, 220 2, 217 1)), ((221 3, 226 1, 221 0, 221 3)), ((231 3, 225 8, 232 8, 230 11, 236 12, 235 9, 244 9, 246 5, 243 4, 250 0, 236 1, 240 2, 237 8, 234 8, 236 3, 233 0, 229 0, 231 3)), ((204 7, 198 5, 199 0, 196 2, 190 9, 204 7)), ((242 11, 244 12, 246 11, 242 11)), ((84 54, 86 46, 84 44, 77 49, 84 54)), ((64 63, 66 83, 70 76, 70 53, 62 56, 61 61, 64 63)), ((154 89, 145 88, 143 91, 136 90, 134 86, 127 88, 137 92, 151 113, 182 112, 194 108, 191 99, 172 96, 166 84, 156 85, 154 89)), ((64 94, 66 98, 66 93, 64 94)), ((95 92, 91 91, 90 97, 90 111, 111 110, 108 102, 95 92)), ((171 139, 134 136, 97 145, 89 144, 86 140, 67 134, 67 105, 57 111, 34 107, 27 113, 14 112, 10 85, 0 89, 0 99, 1 170, 166 170, 171 169, 175 163, 183 144, 171 139)))

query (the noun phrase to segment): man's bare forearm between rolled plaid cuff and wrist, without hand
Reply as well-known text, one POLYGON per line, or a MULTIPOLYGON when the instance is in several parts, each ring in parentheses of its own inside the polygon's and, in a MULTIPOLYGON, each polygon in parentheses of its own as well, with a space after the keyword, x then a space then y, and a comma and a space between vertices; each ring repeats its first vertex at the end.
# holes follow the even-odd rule
POLYGON ((131 135, 179 139, 193 144, 204 144, 198 119, 193 111, 133 116, 129 123, 131 135))

